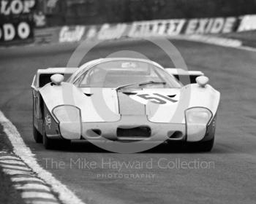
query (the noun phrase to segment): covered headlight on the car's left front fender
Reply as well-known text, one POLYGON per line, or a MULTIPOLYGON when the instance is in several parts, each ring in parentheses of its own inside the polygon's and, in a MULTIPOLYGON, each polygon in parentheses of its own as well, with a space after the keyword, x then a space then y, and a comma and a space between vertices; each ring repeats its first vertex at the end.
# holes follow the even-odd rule
POLYGON ((59 122, 80 122, 80 109, 75 106, 56 106, 53 114, 59 122))

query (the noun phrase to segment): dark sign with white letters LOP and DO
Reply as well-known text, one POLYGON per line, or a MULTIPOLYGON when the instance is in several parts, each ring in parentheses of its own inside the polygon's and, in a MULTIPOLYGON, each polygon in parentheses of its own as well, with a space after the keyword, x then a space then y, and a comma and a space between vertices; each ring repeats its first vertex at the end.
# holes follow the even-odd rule
POLYGON ((35 0, 0 0, 0 44, 33 40, 34 6, 35 0))

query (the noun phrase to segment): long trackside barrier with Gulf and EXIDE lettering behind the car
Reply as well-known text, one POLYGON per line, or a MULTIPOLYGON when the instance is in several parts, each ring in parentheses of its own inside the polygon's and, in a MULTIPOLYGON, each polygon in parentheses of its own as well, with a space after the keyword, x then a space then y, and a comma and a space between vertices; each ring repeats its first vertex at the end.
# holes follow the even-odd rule
POLYGON ((34 44, 80 42, 84 39, 114 40, 149 36, 227 34, 256 29, 256 15, 193 19, 145 20, 92 26, 60 26, 34 30, 34 44))

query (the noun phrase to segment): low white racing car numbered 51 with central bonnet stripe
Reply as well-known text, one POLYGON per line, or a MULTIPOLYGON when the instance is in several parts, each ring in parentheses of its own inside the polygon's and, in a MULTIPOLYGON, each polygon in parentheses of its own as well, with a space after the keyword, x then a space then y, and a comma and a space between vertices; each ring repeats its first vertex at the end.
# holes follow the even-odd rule
POLYGON ((203 151, 214 145, 220 93, 201 71, 100 58, 79 68, 39 69, 31 87, 34 140, 46 149, 56 141, 102 139, 184 141, 203 151))

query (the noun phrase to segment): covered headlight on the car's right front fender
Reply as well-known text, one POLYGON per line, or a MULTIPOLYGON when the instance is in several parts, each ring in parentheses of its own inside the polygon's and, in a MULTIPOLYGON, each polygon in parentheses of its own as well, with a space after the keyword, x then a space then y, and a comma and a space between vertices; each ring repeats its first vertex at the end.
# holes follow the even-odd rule
POLYGON ((187 123, 207 125, 212 117, 211 111, 205 108, 195 107, 185 111, 187 123))

